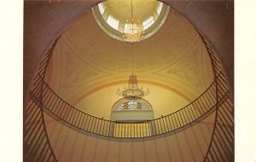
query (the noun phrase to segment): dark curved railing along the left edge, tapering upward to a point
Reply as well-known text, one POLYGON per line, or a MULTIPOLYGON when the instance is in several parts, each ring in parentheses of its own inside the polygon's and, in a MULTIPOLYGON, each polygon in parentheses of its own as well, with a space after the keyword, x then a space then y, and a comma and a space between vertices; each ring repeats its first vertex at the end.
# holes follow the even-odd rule
POLYGON ((38 75, 34 78, 31 95, 37 96, 30 101, 23 113, 23 161, 57 161, 49 143, 49 137, 44 124, 43 86, 49 58, 54 45, 49 49, 39 65, 38 75), (40 76, 40 77, 38 77, 40 76))

